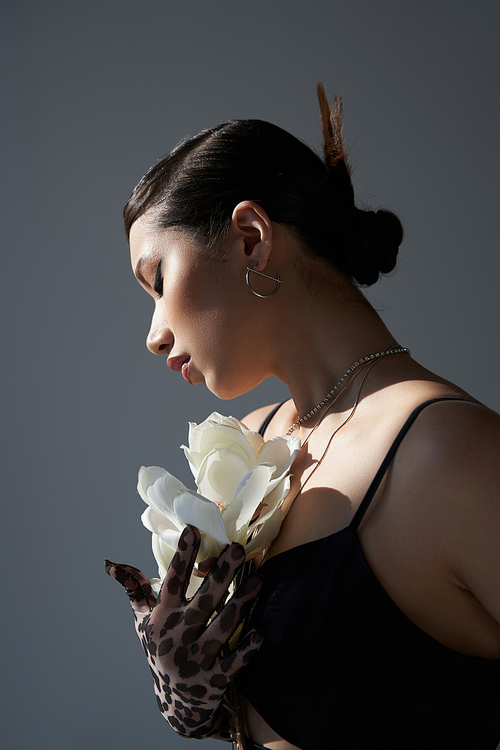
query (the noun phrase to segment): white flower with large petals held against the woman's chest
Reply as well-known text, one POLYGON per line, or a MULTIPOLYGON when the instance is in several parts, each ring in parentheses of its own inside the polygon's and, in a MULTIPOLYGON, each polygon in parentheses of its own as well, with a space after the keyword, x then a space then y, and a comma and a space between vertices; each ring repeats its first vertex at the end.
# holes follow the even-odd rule
POLYGON ((247 560, 269 547, 284 518, 281 504, 300 440, 280 436, 265 442, 237 419, 214 412, 199 425, 190 423, 189 447, 182 447, 197 492, 158 466, 139 471, 137 489, 148 505, 142 522, 153 534, 159 569, 153 585, 163 580, 187 524, 201 532, 198 563, 217 557, 231 542, 245 547, 247 560))

